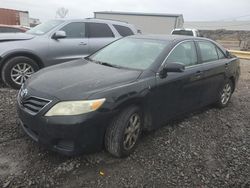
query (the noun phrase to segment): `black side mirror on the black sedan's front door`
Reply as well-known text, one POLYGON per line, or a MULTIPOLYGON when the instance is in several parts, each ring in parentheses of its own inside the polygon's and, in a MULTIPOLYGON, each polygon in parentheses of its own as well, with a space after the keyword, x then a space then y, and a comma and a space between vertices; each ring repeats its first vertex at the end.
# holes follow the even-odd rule
POLYGON ((185 65, 183 63, 173 62, 167 63, 163 69, 159 72, 160 78, 167 77, 168 72, 183 72, 185 65))

